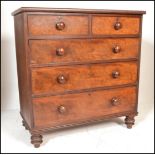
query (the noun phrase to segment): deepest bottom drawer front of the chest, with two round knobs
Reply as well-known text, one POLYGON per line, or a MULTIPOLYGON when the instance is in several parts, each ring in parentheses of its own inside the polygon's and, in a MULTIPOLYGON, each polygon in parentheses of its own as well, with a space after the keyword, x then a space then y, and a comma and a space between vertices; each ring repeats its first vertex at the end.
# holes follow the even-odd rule
POLYGON ((78 123, 134 111, 135 106, 135 87, 35 98, 34 122, 35 127, 78 123))

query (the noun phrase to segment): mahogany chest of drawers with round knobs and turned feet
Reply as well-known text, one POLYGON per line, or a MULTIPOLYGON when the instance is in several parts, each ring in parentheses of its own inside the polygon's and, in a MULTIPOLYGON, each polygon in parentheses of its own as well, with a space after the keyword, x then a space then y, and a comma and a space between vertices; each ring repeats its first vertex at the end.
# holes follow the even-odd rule
POLYGON ((15 23, 20 113, 45 132, 137 115, 145 11, 20 8, 15 23))

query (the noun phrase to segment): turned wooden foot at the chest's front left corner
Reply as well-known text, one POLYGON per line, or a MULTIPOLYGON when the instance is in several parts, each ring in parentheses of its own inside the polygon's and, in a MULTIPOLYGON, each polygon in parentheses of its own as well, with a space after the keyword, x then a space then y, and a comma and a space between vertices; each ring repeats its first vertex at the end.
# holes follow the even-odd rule
POLYGON ((40 147, 40 144, 43 142, 42 135, 34 134, 31 136, 31 143, 34 145, 35 148, 40 147))

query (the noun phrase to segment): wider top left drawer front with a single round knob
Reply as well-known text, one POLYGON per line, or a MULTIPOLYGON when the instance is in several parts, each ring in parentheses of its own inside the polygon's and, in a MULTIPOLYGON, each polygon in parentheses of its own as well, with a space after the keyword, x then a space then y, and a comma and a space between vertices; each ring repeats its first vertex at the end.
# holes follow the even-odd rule
POLYGON ((87 16, 29 15, 30 35, 87 35, 87 16))

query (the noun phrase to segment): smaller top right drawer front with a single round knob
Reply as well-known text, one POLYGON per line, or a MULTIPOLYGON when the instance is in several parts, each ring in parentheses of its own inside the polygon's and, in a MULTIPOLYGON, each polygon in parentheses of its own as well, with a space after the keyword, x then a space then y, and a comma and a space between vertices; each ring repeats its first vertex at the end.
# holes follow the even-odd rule
POLYGON ((138 34, 139 30, 139 17, 94 16, 92 18, 94 35, 138 34))

